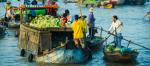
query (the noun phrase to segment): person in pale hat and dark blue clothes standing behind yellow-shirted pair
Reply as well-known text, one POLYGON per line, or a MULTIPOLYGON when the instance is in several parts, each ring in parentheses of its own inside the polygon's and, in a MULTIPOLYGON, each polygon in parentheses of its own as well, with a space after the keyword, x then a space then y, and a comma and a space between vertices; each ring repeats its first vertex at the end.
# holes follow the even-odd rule
POLYGON ((93 14, 93 6, 91 6, 91 8, 89 9, 89 17, 88 17, 88 27, 89 27, 89 37, 91 39, 94 38, 94 27, 95 27, 95 17, 93 14))

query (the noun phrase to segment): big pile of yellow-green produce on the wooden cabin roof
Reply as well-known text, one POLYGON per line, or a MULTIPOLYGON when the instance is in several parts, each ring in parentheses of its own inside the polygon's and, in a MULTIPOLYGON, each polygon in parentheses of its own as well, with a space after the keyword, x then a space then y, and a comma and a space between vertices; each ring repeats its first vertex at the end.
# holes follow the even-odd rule
MULTIPOLYGON (((36 27, 36 28, 50 28, 50 27, 61 27, 59 18, 54 18, 52 16, 42 16, 38 15, 35 17, 31 23, 30 26, 36 27)), ((67 24, 68 25, 68 24, 67 24)), ((69 24, 71 25, 71 24, 69 24)))

